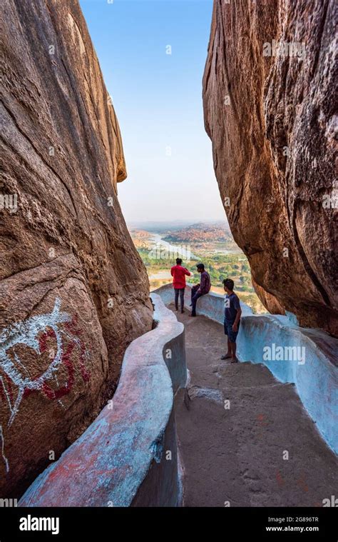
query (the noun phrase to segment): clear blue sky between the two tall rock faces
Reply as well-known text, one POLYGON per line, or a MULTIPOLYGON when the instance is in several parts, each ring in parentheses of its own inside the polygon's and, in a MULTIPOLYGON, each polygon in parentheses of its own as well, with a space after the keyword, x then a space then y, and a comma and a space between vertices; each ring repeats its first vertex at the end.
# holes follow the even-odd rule
POLYGON ((224 220, 203 123, 212 0, 80 4, 121 128, 126 221, 224 220))

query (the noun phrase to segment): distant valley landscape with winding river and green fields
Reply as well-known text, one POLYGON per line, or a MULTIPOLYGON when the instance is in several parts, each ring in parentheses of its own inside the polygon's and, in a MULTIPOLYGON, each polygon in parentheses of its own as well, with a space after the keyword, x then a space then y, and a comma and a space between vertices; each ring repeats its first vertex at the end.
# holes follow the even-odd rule
POLYGON ((235 244, 226 221, 138 223, 130 224, 129 231, 148 271, 150 290, 172 280, 170 267, 175 265, 177 257, 182 258, 183 265, 193 273, 188 281, 198 283, 196 264, 202 261, 210 273, 212 291, 224 293, 223 279, 232 278, 240 299, 254 313, 266 312, 252 286, 247 258, 235 244))

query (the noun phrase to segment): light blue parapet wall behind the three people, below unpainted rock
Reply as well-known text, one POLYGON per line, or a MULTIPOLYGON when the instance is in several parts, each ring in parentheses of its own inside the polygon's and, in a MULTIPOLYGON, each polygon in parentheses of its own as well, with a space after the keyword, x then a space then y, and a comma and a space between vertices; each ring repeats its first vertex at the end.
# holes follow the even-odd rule
MULTIPOLYGON (((173 303, 171 284, 155 290, 166 304, 173 303)), ((190 303, 190 285, 185 305, 190 303)), ((264 363, 282 382, 295 383, 309 416, 328 445, 338 453, 338 340, 319 329, 301 328, 296 318, 252 314, 242 305, 237 338, 240 361, 264 363)), ((208 293, 198 300, 198 314, 223 323, 224 297, 208 293)))

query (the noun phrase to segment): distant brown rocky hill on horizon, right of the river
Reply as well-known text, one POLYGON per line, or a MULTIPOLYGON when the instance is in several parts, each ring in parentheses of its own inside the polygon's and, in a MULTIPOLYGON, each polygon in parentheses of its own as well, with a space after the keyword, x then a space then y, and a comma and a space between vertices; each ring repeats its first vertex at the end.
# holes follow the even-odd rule
POLYGON ((200 222, 191 226, 168 231, 163 238, 165 241, 179 241, 185 243, 205 243, 206 241, 229 242, 233 241, 230 230, 226 222, 215 222, 205 224, 200 222))

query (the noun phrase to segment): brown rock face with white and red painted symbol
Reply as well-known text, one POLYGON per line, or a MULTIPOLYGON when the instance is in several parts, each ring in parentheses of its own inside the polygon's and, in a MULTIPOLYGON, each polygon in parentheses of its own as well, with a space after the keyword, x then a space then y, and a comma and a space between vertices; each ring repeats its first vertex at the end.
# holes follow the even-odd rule
POLYGON ((75 0, 1 2, 0 496, 96 417, 152 326, 118 122, 75 0))

